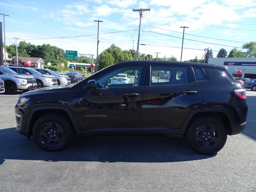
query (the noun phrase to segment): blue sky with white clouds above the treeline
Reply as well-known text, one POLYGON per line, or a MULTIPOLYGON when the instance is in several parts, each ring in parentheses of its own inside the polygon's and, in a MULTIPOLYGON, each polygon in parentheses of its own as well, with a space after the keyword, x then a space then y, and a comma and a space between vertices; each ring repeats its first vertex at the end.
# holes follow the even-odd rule
POLYGON ((256 41, 256 0, 0 1, 0 13, 10 15, 5 18, 7 45, 13 44, 16 36, 31 44, 94 54, 94 58, 98 27, 94 20, 103 21, 99 52, 112 43, 123 50, 136 49, 140 16, 133 8, 150 8, 143 13, 140 44, 145 45, 140 45, 139 52, 153 57, 159 52, 158 57, 174 55, 180 60, 180 26, 189 27, 185 29, 182 60, 200 59, 208 47, 215 57, 220 48, 230 51, 256 41), (59 38, 70 36, 83 37, 59 38))

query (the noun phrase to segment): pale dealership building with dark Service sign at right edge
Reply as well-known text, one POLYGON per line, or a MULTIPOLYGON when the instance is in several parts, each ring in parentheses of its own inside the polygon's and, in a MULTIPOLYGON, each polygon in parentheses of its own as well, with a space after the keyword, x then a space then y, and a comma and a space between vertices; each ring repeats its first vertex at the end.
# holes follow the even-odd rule
POLYGON ((227 66, 227 71, 232 74, 233 77, 256 79, 256 58, 209 58, 208 63, 227 66), (242 74, 237 74, 238 71, 242 71, 242 74))

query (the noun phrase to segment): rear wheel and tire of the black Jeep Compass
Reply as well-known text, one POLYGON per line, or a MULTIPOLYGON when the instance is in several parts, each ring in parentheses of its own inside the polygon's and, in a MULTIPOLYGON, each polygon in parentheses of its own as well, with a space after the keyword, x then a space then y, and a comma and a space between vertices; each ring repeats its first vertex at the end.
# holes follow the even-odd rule
POLYGON ((227 131, 224 125, 213 117, 196 119, 188 128, 186 140, 195 152, 214 154, 226 143, 227 131))

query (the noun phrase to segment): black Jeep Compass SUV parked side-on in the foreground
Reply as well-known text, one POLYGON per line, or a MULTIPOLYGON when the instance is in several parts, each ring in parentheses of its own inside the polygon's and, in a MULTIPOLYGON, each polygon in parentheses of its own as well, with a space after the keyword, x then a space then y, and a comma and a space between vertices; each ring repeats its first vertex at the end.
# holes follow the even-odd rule
POLYGON ((185 136, 201 154, 244 130, 247 110, 246 90, 226 67, 167 61, 114 64, 79 83, 23 93, 15 106, 18 132, 45 150, 64 148, 73 133, 166 134, 185 136))

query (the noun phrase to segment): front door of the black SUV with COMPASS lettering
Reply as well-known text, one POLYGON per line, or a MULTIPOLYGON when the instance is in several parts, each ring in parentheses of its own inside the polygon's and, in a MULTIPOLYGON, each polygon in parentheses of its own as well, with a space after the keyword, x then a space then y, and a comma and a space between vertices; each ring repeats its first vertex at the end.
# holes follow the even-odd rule
POLYGON ((96 76, 96 89, 83 87, 78 97, 83 132, 141 133, 144 73, 144 65, 119 66, 96 76), (128 74, 130 83, 112 83, 119 73, 128 74))

